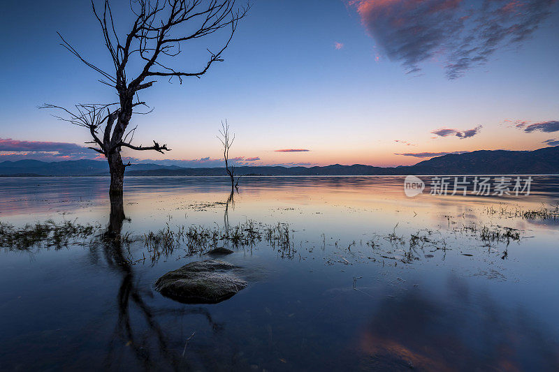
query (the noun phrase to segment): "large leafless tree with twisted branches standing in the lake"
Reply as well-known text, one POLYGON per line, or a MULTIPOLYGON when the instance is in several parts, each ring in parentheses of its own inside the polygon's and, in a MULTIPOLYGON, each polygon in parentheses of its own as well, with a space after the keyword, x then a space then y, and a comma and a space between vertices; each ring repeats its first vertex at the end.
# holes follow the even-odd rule
MULTIPOLYGON (((120 151, 129 148, 138 151, 170 151, 166 144, 153 141, 152 146, 136 146, 131 143, 136 128, 129 129, 134 107, 145 105, 138 92, 150 88, 157 79, 201 77, 214 62, 223 61, 222 54, 231 43, 237 24, 245 17, 249 5, 237 7, 235 0, 131 0, 133 20, 129 32, 120 34, 115 20, 126 15, 115 15, 108 0, 100 12, 92 0, 92 9, 99 22, 105 46, 112 60, 110 72, 88 61, 62 37, 61 45, 80 61, 102 75, 99 82, 116 90, 118 102, 107 105, 76 105, 77 112, 56 105, 43 107, 62 109, 69 114, 66 120, 89 128, 92 135, 91 148, 106 156, 110 169, 110 193, 122 194, 124 170, 120 151), (170 61, 181 53, 181 45, 205 38, 221 29, 229 29, 226 41, 211 52, 205 64, 198 70, 184 71, 170 66, 170 61), (135 72, 132 66, 140 66, 135 72), (101 134, 99 132, 101 131, 101 134)), ((144 112, 146 113, 146 112, 144 112)))

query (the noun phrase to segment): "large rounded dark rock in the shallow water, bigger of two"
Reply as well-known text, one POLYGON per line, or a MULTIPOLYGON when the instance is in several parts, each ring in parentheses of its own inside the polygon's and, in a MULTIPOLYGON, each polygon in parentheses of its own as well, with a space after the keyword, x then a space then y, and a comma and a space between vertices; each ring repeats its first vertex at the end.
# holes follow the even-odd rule
POLYGON ((217 304, 247 286, 231 272, 234 268, 221 260, 190 262, 161 276, 154 287, 161 295, 184 304, 217 304))

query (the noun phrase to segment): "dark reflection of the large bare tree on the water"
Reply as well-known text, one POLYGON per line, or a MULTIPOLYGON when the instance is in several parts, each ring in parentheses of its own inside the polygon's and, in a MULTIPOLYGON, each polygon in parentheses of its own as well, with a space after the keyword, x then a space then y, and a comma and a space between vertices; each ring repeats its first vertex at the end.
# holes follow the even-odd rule
POLYGON ((170 337, 157 318, 194 314, 203 315, 215 332, 222 329, 222 325, 214 322, 205 308, 152 308, 145 302, 144 297, 151 295, 151 292, 140 288, 131 261, 127 257, 126 243, 122 237, 122 225, 126 219, 123 205, 122 195, 111 195, 108 228, 102 239, 106 262, 110 269, 121 277, 117 294, 117 324, 108 345, 105 367, 113 369, 115 362, 122 361, 122 355, 118 355, 119 350, 122 350, 119 345, 126 345, 132 351, 134 359, 145 369, 164 368, 177 371, 187 368, 186 360, 182 358, 182 350, 177 348, 177 345, 171 345, 170 337), (140 315, 139 318, 136 314, 140 315))

